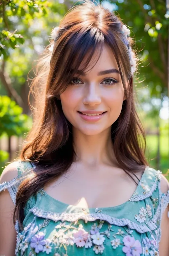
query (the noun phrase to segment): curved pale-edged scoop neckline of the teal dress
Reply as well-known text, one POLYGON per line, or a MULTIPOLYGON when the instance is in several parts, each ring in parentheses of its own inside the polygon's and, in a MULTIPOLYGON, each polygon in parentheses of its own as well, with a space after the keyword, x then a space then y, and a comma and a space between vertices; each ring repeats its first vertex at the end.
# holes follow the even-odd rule
POLYGON ((146 172, 147 172, 147 170, 149 169, 150 167, 149 166, 146 166, 145 167, 145 170, 144 170, 144 172, 143 172, 143 174, 142 174, 142 177, 141 177, 141 179, 139 180, 139 182, 138 182, 138 185, 137 185, 137 187, 136 187, 136 189, 135 189, 135 191, 134 191, 134 193, 132 194, 132 196, 130 196, 130 198, 126 201, 126 202, 124 202, 124 203, 122 203, 122 204, 119 204, 119 205, 115 205, 115 206, 110 206, 110 207, 86 207, 86 208, 82 208, 82 207, 80 207, 80 206, 77 206, 77 205, 71 205, 71 204, 67 204, 67 203, 64 203, 64 202, 62 202, 62 201, 60 201, 60 200, 57 200, 57 199, 55 199, 55 198, 53 198, 51 195, 49 195, 47 192, 46 192, 46 190, 45 189, 40 189, 39 190, 39 192, 41 191, 42 192, 42 194, 44 194, 47 198, 48 198, 48 200, 50 200, 50 201, 53 201, 53 204, 58 204, 58 205, 60 205, 61 207, 66 207, 66 208, 70 208, 70 209, 79 209, 79 210, 83 210, 84 212, 95 212, 95 213, 100 213, 100 212, 102 212, 102 211, 109 211, 109 210, 112 210, 112 209, 117 209, 117 208, 120 208, 120 207, 123 207, 124 205, 126 205, 128 202, 130 202, 130 201, 132 201, 131 199, 133 198, 133 196, 135 195, 135 194, 139 194, 139 188, 140 188, 140 186, 142 185, 142 182, 143 182, 143 179, 144 179, 144 176, 145 176, 145 174, 146 174, 146 172))

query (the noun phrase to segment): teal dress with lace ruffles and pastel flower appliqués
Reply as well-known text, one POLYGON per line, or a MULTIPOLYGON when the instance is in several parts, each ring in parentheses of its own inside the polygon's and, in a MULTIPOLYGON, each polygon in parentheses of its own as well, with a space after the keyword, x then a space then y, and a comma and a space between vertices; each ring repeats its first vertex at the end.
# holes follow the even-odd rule
MULTIPOLYGON (((34 170, 18 161, 18 177, 34 170)), ((159 255, 160 222, 169 191, 160 190, 161 172, 149 166, 131 198, 116 207, 80 208, 62 203, 40 189, 27 201, 21 231, 16 221, 16 256, 159 255)), ((0 184, 15 204, 17 177, 0 184)))

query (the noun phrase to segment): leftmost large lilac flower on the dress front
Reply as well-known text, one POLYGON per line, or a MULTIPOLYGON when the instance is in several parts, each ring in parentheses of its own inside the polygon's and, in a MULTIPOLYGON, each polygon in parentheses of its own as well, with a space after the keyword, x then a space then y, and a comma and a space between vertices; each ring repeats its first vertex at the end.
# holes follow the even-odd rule
POLYGON ((39 253, 40 251, 43 251, 43 246, 46 243, 46 240, 43 239, 45 237, 45 234, 43 232, 38 232, 31 238, 31 244, 30 246, 32 248, 35 248, 35 252, 39 253))

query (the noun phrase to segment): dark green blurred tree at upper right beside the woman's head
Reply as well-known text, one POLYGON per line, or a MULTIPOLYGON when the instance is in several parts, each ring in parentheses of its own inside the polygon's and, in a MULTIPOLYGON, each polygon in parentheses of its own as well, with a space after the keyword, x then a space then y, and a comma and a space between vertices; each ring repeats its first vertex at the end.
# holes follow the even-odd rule
POLYGON ((139 80, 145 80, 151 96, 158 96, 159 92, 167 95, 169 15, 166 14, 165 1, 110 0, 101 3, 119 14, 131 30, 130 35, 136 41, 135 48, 143 61, 139 80))

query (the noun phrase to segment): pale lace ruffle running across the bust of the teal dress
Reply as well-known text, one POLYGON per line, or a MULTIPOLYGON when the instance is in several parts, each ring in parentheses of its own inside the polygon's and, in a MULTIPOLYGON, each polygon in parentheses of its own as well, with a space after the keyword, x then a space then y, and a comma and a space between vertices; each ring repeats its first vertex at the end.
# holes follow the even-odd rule
POLYGON ((68 221, 68 222, 75 222, 79 219, 83 219, 85 223, 88 221, 96 221, 97 219, 100 219, 102 221, 107 221, 109 224, 114 224, 116 226, 128 226, 130 229, 135 229, 139 233, 148 232, 151 230, 154 230, 157 228, 155 223, 147 219, 147 224, 137 224, 135 222, 130 221, 129 219, 118 219, 111 217, 107 214, 102 213, 91 213, 91 214, 85 214, 85 213, 54 213, 54 212, 47 212, 45 210, 39 209, 38 207, 33 207, 30 209, 30 212, 32 212, 37 217, 45 218, 45 219, 51 219, 53 221, 68 221))

